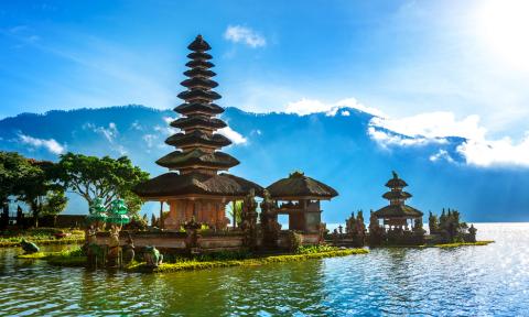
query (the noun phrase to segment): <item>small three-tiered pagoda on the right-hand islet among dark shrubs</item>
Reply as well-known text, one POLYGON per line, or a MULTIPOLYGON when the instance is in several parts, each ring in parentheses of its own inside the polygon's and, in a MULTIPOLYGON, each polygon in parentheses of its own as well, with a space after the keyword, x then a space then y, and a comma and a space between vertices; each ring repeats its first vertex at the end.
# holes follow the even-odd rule
POLYGON ((399 178, 399 175, 395 172, 393 177, 386 183, 386 187, 389 187, 391 190, 385 193, 382 197, 389 200, 389 206, 375 211, 375 216, 378 219, 384 219, 385 226, 408 229, 408 226, 412 225, 408 223, 408 220, 422 221, 422 212, 406 205, 406 199, 411 198, 411 194, 402 190, 408 184, 399 178))

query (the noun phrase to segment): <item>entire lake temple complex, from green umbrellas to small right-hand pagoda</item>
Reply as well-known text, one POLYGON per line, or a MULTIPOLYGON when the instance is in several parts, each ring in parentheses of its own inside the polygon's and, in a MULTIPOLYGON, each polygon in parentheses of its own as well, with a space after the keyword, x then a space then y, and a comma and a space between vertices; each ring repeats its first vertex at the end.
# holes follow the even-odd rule
MULTIPOLYGON (((179 132, 165 140, 175 149, 156 161, 169 171, 140 183, 133 189, 143 201, 160 204, 159 218, 153 219, 149 230, 122 230, 130 220, 123 200, 117 199, 108 205, 96 199, 87 217, 83 248, 83 254, 87 256, 85 264, 87 262, 95 267, 123 266, 134 259, 144 259, 147 266, 156 267, 163 255, 247 252, 258 256, 248 262, 253 265, 256 259, 260 259, 259 263, 283 261, 283 258, 263 260, 263 254, 290 254, 291 259, 305 259, 368 252, 366 249, 346 251, 337 247, 434 245, 476 241, 476 229, 462 222, 458 211, 450 209, 447 212, 443 210, 439 219, 430 212, 430 234, 427 234, 422 223, 423 212, 406 204, 411 194, 403 190, 408 184, 396 172, 386 183, 389 192, 382 195, 389 205, 371 210, 368 228, 363 211, 358 211, 356 217, 353 212, 346 220, 345 232, 339 226, 332 233, 322 222, 321 208, 322 200, 331 200, 338 195, 331 186, 302 172, 293 172, 266 188, 229 174, 229 168, 238 165, 239 161, 220 151, 231 141, 218 132, 227 124, 217 118, 224 108, 214 103, 220 95, 213 90, 218 84, 212 79, 216 74, 210 70, 214 67, 212 55, 207 53, 210 47, 201 35, 187 47, 192 51, 186 64, 190 69, 184 72, 187 79, 181 83, 185 90, 177 95, 184 102, 174 108, 179 116, 170 123, 179 132), (231 226, 226 217, 227 206, 231 208, 231 226), (288 216, 288 230, 282 229, 278 221, 280 215, 288 216), (154 223, 158 223, 156 227, 154 223), (305 255, 301 255, 303 248, 309 250, 305 255)), ((31 243, 24 245, 30 253, 39 250, 31 243)), ((228 265, 228 262, 218 263, 215 265, 228 265)), ((240 265, 244 262, 229 263, 240 265)), ((185 265, 180 263, 172 267, 180 270, 193 265, 209 267, 213 264, 187 261, 185 265)))

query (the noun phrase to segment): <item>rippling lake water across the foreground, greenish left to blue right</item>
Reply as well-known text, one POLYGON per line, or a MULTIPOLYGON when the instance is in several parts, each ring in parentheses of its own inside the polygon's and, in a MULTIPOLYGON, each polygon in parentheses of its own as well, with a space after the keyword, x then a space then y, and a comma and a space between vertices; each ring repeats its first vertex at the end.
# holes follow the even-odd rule
POLYGON ((529 223, 477 228, 496 243, 158 275, 52 267, 0 249, 0 315, 529 316, 529 223))

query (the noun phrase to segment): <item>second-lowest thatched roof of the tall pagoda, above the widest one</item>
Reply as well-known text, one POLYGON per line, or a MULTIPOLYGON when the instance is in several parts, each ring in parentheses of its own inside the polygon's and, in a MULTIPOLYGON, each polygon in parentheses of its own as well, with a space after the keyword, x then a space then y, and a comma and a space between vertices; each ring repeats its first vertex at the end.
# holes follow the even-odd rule
POLYGON ((156 161, 156 164, 168 168, 185 168, 185 167, 209 167, 215 170, 227 170, 239 164, 234 156, 223 153, 207 153, 201 149, 188 152, 174 151, 156 161))

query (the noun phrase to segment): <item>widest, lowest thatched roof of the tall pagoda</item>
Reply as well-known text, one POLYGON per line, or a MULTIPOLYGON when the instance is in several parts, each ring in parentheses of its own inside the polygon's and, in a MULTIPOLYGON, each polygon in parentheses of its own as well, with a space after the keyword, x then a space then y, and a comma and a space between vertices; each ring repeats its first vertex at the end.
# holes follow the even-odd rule
POLYGON ((250 189, 262 196, 262 187, 253 182, 230 174, 206 175, 202 173, 165 173, 139 184, 133 192, 143 199, 188 198, 207 196, 214 198, 242 198, 250 189))

